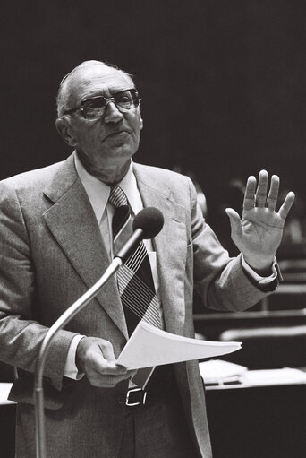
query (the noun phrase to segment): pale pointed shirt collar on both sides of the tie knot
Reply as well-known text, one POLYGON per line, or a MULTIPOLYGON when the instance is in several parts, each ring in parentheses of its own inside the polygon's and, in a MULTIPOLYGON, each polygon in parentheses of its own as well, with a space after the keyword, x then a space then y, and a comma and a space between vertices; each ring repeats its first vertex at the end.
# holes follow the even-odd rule
MULTIPOLYGON (((89 202, 91 203, 97 220, 100 221, 103 213, 106 211, 106 205, 108 202, 111 186, 106 185, 98 178, 90 175, 89 172, 84 169, 84 166, 82 165, 81 160, 78 158, 77 153, 74 154, 74 160, 75 168, 81 179, 81 183, 85 187, 85 190, 89 196, 89 202)), ((140 212, 142 203, 137 188, 136 178, 132 172, 132 160, 128 172, 123 177, 123 179, 117 183, 117 185, 123 189, 133 214, 140 212)))

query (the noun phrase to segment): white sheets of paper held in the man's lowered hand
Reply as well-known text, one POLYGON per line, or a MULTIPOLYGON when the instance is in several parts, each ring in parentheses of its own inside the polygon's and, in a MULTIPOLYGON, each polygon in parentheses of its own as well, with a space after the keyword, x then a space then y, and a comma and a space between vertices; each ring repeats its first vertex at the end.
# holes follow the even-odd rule
POLYGON ((241 342, 199 341, 166 333, 140 321, 117 359, 128 369, 160 366, 162 364, 213 358, 232 353, 242 347, 241 342))

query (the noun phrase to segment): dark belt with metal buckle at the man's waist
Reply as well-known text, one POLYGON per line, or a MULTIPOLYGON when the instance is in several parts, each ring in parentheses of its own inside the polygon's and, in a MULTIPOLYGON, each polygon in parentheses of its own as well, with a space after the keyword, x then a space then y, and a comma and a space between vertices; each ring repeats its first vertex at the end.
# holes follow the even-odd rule
POLYGON ((148 389, 135 387, 128 390, 125 397, 127 407, 149 405, 157 401, 165 400, 174 387, 174 374, 172 367, 157 367, 149 380, 148 389))

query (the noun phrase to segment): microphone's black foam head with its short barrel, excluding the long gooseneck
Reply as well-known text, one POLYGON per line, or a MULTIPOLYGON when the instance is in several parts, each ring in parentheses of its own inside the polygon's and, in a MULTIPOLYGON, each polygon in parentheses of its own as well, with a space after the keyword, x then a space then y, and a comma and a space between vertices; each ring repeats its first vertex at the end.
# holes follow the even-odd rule
POLYGON ((155 207, 147 207, 139 212, 133 222, 132 236, 125 242, 115 257, 122 259, 123 263, 132 254, 143 238, 153 238, 164 226, 164 216, 155 207))

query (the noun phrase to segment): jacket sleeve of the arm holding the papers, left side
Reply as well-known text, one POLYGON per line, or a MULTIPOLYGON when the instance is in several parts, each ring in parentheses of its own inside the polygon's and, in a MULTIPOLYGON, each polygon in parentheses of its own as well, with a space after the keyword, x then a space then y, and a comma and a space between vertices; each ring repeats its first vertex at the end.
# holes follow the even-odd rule
MULTIPOLYGON (((34 372, 47 327, 35 319, 38 301, 30 237, 18 196, 6 180, 0 183, 0 359, 34 372)), ((60 331, 47 354, 44 376, 62 388, 66 354, 76 335, 60 331)))

